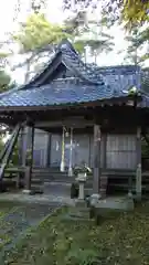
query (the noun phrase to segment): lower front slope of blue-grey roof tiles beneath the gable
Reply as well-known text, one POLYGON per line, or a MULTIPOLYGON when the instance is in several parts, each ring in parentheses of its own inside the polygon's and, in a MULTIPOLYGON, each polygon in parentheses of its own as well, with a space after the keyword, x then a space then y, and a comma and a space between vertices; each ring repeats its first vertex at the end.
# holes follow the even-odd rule
POLYGON ((0 106, 53 106, 63 104, 79 104, 109 99, 111 97, 126 96, 126 94, 114 94, 109 86, 87 85, 85 83, 55 81, 50 85, 20 89, 2 96, 0 106))

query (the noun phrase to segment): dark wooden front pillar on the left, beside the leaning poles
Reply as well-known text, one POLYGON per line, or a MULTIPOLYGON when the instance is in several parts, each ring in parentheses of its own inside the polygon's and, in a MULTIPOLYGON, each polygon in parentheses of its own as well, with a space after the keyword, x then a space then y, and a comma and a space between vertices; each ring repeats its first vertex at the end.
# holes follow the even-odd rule
POLYGON ((26 132, 26 157, 25 157, 25 193, 31 192, 31 179, 32 179, 32 167, 33 167, 33 144, 34 144, 34 125, 28 127, 26 132))

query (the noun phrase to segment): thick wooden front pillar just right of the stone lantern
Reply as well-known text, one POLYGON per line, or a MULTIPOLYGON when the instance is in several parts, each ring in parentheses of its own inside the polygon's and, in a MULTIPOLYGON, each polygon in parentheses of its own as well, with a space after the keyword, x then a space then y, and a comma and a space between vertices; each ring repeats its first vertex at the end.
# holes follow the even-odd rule
POLYGON ((94 125, 94 171, 93 171, 93 192, 99 193, 100 177, 100 126, 94 125))

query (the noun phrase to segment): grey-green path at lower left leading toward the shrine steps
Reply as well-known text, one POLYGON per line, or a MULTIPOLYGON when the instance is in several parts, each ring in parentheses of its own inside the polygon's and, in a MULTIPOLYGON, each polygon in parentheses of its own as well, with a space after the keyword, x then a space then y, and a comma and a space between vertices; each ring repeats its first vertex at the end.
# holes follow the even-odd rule
POLYGON ((25 235, 26 231, 38 225, 47 214, 52 213, 60 203, 50 204, 19 204, 10 210, 0 220, 0 265, 4 263, 6 253, 11 251, 15 243, 25 235))

